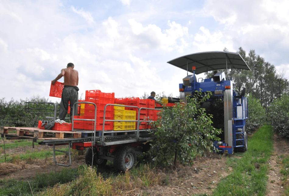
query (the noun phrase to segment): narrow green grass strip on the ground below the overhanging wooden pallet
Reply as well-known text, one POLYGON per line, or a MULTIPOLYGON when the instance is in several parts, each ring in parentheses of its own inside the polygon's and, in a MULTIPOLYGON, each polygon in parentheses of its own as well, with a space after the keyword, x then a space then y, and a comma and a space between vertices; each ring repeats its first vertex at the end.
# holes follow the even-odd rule
MULTIPOLYGON (((68 148, 61 148, 59 150, 68 151, 68 148)), ((55 155, 63 155, 62 152, 55 152, 55 155)), ((41 150, 39 152, 30 152, 30 150, 27 150, 25 154, 6 154, 6 162, 15 162, 17 160, 21 161, 31 161, 36 159, 45 159, 48 157, 53 157, 53 149, 49 150, 41 150)), ((5 155, 0 155, 0 163, 5 162, 5 155)))

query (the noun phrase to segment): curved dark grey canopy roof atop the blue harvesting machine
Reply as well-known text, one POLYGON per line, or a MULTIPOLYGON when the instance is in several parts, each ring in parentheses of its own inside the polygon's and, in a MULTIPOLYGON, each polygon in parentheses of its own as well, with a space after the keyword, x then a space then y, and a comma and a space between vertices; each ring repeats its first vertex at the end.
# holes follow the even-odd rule
POLYGON ((167 63, 170 63, 181 69, 188 69, 188 71, 191 73, 193 73, 192 67, 195 66, 195 74, 226 68, 251 70, 244 59, 239 55, 239 53, 235 52, 198 52, 181 56, 179 58, 168 61, 167 63))

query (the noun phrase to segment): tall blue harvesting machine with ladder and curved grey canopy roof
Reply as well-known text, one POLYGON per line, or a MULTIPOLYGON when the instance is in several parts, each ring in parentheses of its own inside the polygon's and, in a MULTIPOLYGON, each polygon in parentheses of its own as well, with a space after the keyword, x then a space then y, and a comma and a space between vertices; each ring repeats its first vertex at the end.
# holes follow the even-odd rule
POLYGON ((234 148, 247 147, 246 119, 248 118, 248 98, 243 94, 239 95, 233 90, 233 81, 226 80, 223 72, 216 73, 213 78, 202 79, 197 82, 195 71, 203 73, 216 69, 230 68, 250 70, 244 59, 233 52, 200 52, 182 56, 169 61, 168 63, 187 72, 193 73, 183 79, 179 84, 180 100, 186 103, 186 96, 192 96, 196 91, 213 93, 215 99, 224 100, 224 135, 222 142, 215 141, 214 146, 221 153, 232 154, 234 148), (235 65, 233 65, 235 63, 235 65), (192 67, 192 71, 189 71, 192 67))

